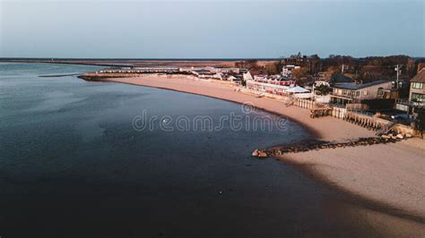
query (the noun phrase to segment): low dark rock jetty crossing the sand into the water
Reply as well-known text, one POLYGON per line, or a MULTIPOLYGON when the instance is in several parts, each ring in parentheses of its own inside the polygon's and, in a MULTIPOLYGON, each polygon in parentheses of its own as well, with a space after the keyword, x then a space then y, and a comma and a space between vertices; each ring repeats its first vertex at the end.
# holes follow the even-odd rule
POLYGON ((351 140, 345 142, 330 142, 322 140, 314 140, 302 144, 295 144, 289 146, 282 146, 279 148, 273 149, 256 149, 252 152, 253 157, 273 157, 281 156, 287 153, 299 153, 306 152, 309 150, 320 150, 320 149, 337 149, 337 148, 346 148, 346 147, 357 147, 357 146, 371 146, 377 144, 386 144, 386 143, 395 143, 400 140, 406 140, 410 138, 409 135, 402 134, 388 134, 381 137, 366 137, 359 138, 358 140, 351 140))

